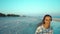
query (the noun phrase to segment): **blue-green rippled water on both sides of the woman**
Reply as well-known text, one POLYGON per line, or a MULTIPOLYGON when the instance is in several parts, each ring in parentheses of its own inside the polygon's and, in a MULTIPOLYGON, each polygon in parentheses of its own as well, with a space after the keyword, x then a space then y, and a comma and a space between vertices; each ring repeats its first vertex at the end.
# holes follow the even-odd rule
MULTIPOLYGON (((42 20, 32 17, 0 17, 0 34, 34 34, 42 20)), ((60 34, 60 22, 52 21, 54 34, 60 34)))

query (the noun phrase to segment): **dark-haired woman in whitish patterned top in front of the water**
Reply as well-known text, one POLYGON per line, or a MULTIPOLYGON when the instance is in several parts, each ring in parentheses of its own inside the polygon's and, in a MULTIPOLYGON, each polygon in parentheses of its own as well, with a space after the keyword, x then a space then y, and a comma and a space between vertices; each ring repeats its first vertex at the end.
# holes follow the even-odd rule
POLYGON ((40 24, 35 34, 53 34, 52 28, 50 27, 50 23, 52 21, 52 17, 50 15, 45 15, 42 24, 40 24))

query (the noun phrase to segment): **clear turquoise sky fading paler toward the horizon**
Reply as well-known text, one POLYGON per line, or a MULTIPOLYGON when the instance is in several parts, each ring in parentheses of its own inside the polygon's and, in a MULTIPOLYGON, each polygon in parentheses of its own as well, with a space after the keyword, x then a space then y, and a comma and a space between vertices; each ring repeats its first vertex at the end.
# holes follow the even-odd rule
POLYGON ((0 0, 0 13, 60 16, 60 0, 0 0))

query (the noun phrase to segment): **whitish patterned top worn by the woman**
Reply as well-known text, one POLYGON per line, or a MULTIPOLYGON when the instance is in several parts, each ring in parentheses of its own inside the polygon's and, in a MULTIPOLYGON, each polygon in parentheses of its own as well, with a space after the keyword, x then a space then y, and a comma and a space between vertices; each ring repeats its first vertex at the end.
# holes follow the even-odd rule
POLYGON ((45 29, 43 25, 36 29, 35 34, 53 34, 52 28, 45 29))

